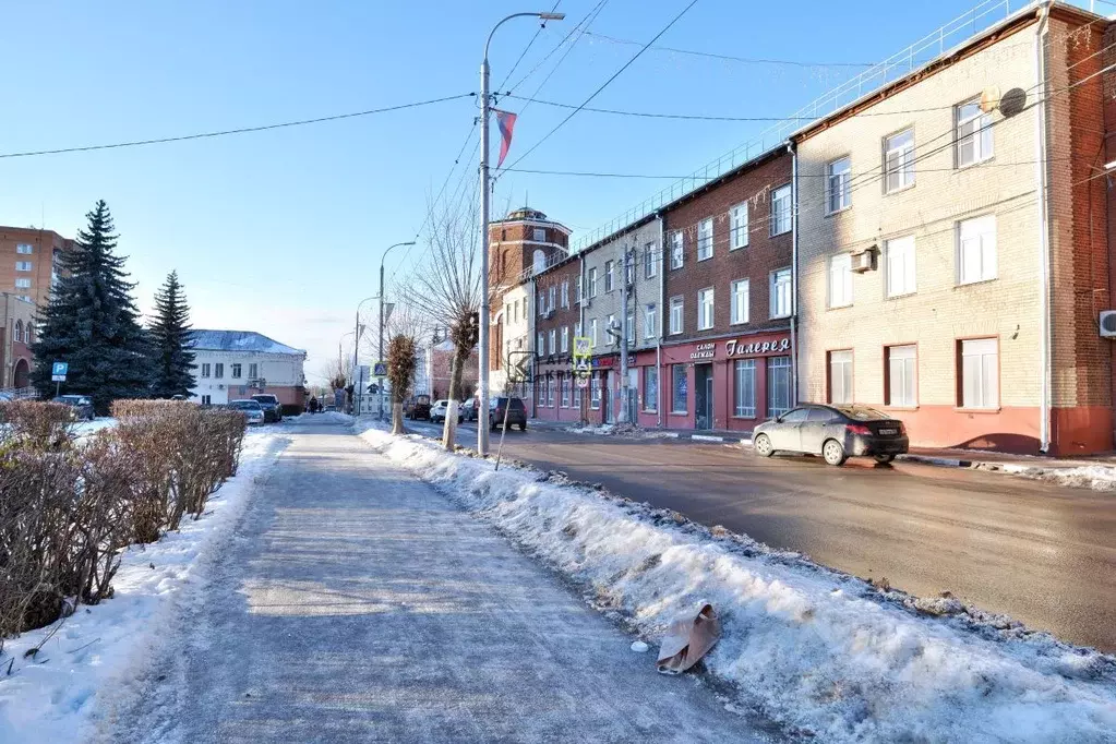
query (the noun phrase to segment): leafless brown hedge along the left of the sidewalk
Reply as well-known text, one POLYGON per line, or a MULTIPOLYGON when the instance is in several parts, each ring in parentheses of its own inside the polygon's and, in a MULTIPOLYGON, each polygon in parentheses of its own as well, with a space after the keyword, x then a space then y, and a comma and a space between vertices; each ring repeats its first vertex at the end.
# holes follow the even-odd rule
POLYGON ((112 597, 123 549, 195 519, 237 472, 244 417, 121 400, 78 441, 73 410, 0 404, 0 638, 112 597))

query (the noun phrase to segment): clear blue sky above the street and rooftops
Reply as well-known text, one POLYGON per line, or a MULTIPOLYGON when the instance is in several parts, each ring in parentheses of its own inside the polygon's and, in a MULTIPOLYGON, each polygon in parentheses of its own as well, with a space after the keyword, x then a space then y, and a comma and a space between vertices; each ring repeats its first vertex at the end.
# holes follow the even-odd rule
MULTIPOLYGON (((597 1, 561 0, 558 10, 567 13, 566 21, 539 35, 509 86, 536 68, 597 1)), ((860 69, 837 64, 883 59, 975 2, 699 0, 660 46, 831 66, 750 64, 652 49, 590 105, 785 116, 860 69)), ((475 93, 491 25, 510 12, 552 4, 9 3, 4 25, 15 32, 4 49, 0 153, 175 136, 475 93)), ((685 4, 608 0, 589 30, 646 41, 685 4)), ((493 86, 536 28, 535 21, 520 19, 500 30, 491 52, 493 86)), ((578 104, 637 49, 581 37, 538 96, 578 104)), ((517 94, 533 93, 564 51, 552 54, 517 94)), ((522 100, 502 102, 510 110, 522 106, 522 100)), ((475 102, 463 98, 259 134, 3 158, 0 224, 45 221, 71 236, 94 201, 105 199, 121 233, 119 252, 138 282, 142 309, 150 308, 166 273, 177 269, 195 326, 259 330, 306 348, 312 379, 328 357, 336 357, 356 303, 376 293, 381 251, 415 235, 427 197, 441 187, 475 114, 475 102)), ((508 164, 567 114, 531 104, 517 124, 508 164)), ((580 113, 519 167, 689 174, 764 126, 580 113)), ((492 133, 494 154, 494 123, 492 133)), ((463 161, 472 152, 471 145, 463 161)), ((466 197, 473 194, 474 173, 470 166, 462 183, 466 197)), ((458 183, 454 175, 450 190, 458 183)), ((573 228, 576 238, 668 183, 508 173, 497 185, 493 215, 529 197, 532 206, 573 228)), ((420 260, 421 245, 396 249, 388 274, 402 278, 420 260)), ((371 346, 366 350, 371 354, 371 346)))

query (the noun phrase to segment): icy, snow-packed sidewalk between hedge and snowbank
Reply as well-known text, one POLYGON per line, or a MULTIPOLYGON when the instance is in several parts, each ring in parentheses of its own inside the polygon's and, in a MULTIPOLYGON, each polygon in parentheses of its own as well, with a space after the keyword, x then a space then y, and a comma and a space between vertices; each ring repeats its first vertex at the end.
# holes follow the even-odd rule
POLYGON ((291 428, 163 689, 109 738, 761 738, 352 428, 291 428))

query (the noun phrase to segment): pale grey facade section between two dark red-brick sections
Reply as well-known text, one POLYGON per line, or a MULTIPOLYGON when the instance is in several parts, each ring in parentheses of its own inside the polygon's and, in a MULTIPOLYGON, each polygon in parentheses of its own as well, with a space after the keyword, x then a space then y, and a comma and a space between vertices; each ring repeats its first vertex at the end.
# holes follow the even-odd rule
POLYGON ((661 223, 647 215, 581 251, 581 328, 593 349, 584 417, 619 419, 624 406, 620 348, 628 348, 628 421, 657 426, 662 327, 661 223), (625 271, 625 261, 627 269, 625 271), (627 282, 627 306, 623 282, 627 282))

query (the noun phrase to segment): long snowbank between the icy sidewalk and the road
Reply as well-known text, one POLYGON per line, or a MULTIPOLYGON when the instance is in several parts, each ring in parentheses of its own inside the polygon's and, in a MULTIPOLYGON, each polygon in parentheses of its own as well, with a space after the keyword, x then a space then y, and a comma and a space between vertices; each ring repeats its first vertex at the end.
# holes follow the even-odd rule
MULTIPOLYGON (((374 428, 363 438, 655 639, 708 600, 723 637, 706 668, 739 703, 824 741, 1113 741, 1116 659, 923 601, 723 528, 569 483, 449 455, 374 428)), ((664 684, 670 684, 665 683, 664 684)))

